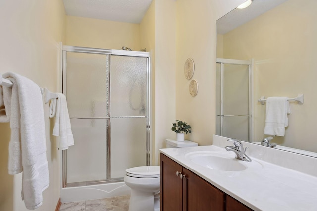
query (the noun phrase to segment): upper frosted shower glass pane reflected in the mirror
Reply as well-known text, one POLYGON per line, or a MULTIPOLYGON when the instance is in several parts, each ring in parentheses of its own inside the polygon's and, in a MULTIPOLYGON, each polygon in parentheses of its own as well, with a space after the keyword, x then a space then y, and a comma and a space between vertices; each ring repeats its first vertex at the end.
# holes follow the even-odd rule
POLYGON ((249 66, 225 64, 223 71, 223 114, 249 113, 249 66))

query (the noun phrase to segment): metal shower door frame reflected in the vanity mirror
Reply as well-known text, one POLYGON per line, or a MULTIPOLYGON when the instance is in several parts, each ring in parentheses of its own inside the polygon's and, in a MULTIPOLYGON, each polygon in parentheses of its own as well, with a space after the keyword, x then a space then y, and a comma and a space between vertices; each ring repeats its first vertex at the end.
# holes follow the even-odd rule
POLYGON ((253 62, 254 60, 236 60, 236 59, 222 59, 216 58, 216 63, 220 64, 220 135, 223 136, 223 118, 224 117, 237 117, 237 116, 248 116, 248 142, 253 140, 253 62), (226 115, 223 113, 223 80, 224 80, 224 65, 225 64, 235 64, 235 65, 248 65, 249 66, 249 99, 248 99, 248 114, 243 115, 226 115))

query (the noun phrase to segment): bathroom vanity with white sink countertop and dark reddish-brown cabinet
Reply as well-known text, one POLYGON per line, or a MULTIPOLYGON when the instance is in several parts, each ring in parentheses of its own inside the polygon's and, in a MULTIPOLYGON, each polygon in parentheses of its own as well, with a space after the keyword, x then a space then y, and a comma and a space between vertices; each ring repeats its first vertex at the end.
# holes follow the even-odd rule
POLYGON ((317 158, 244 142, 240 161, 226 140, 160 150, 162 211, 317 210, 317 158))

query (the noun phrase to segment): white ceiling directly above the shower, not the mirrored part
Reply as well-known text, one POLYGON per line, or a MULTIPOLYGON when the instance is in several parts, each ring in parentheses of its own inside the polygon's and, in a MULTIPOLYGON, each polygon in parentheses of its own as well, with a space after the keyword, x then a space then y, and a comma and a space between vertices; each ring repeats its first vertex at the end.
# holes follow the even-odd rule
POLYGON ((63 0, 66 15, 140 23, 152 0, 63 0))

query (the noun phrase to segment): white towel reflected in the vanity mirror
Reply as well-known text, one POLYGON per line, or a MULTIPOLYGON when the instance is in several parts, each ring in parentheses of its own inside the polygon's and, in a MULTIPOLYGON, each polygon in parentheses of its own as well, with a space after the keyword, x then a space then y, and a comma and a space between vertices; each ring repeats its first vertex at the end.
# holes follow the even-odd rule
POLYGON ((287 97, 268 97, 266 100, 265 135, 285 135, 290 113, 287 97))

